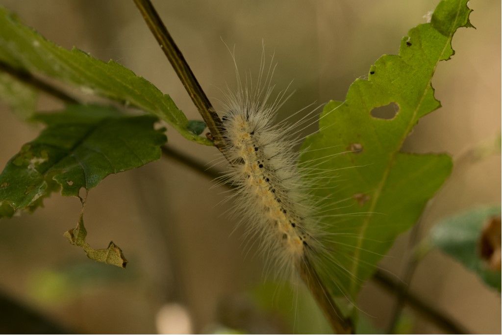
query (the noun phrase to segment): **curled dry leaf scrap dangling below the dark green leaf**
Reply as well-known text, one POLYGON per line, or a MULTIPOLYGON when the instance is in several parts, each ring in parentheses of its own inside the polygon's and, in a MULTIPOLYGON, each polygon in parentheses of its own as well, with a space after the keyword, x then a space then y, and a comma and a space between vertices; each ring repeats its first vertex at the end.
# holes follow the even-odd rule
POLYGON ((118 248, 113 242, 110 242, 108 244, 108 248, 106 249, 93 249, 87 242, 85 242, 87 231, 84 227, 83 213, 80 213, 77 227, 64 233, 64 236, 71 244, 81 247, 87 254, 87 257, 92 260, 115 265, 121 268, 125 268, 128 263, 122 253, 122 250, 120 250, 120 248, 118 248))

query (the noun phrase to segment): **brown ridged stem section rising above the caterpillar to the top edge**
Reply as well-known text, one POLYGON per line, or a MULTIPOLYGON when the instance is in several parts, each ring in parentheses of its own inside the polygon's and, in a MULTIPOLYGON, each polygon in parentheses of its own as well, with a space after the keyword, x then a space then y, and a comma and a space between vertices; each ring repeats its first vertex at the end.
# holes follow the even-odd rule
POLYGON ((213 141, 214 146, 218 148, 219 151, 223 151, 224 141, 223 136, 221 135, 221 120, 216 114, 216 111, 211 105, 211 102, 207 98, 206 94, 202 90, 197 78, 195 78, 195 75, 185 60, 185 57, 183 57, 183 54, 176 43, 174 43, 173 38, 167 31, 166 26, 159 17, 159 14, 157 14, 157 11, 150 0, 134 0, 134 2, 143 15, 143 19, 145 19, 145 22, 150 28, 152 34, 157 39, 157 42, 159 42, 159 45, 164 51, 167 59, 176 71, 176 74, 183 83, 183 86, 185 86, 185 89, 190 95, 193 103, 199 110, 207 128, 209 128, 212 137, 211 140, 213 141))

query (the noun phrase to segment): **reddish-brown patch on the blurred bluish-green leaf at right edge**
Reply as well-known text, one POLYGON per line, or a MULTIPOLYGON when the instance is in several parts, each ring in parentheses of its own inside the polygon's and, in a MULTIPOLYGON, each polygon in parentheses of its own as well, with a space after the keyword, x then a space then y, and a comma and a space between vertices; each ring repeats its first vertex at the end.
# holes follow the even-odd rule
POLYGON ((479 256, 493 271, 500 271, 500 216, 488 219, 479 238, 479 256))

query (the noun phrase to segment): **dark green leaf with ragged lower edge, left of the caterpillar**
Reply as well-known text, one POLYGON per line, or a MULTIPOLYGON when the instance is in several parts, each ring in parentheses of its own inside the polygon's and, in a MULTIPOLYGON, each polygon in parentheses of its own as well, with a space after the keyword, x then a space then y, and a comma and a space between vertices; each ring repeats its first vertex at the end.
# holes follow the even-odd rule
POLYGON ((34 119, 48 127, 0 174, 0 217, 33 210, 59 189, 78 196, 111 173, 159 159, 167 141, 163 129, 153 128, 157 118, 123 117, 110 107, 73 105, 34 119))

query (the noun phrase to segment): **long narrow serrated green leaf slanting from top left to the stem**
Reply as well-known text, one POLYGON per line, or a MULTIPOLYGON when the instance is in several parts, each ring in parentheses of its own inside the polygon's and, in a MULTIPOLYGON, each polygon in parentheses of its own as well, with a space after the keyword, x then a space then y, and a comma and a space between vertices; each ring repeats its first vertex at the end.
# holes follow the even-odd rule
POLYGON ((76 48, 59 47, 2 7, 0 32, 0 61, 78 85, 83 92, 133 104, 166 121, 185 138, 213 145, 188 128, 187 118, 169 95, 117 62, 105 63, 76 48))

